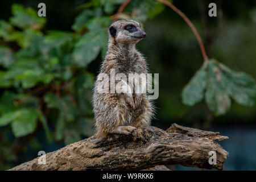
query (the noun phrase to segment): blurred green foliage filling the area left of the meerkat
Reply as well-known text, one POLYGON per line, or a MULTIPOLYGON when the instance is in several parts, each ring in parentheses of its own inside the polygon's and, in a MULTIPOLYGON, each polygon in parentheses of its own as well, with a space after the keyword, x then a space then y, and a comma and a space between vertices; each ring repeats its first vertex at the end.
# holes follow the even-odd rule
MULTIPOLYGON (((65 144, 93 134, 94 75, 86 68, 100 52, 104 58, 110 15, 122 2, 98 0, 77 7, 80 14, 73 31, 43 30, 47 19, 18 4, 12 5, 8 22, 0 21, 0 127, 5 131, 0 134, 0 151, 9 151, 0 156, 5 163, 17 155, 16 146, 6 142, 9 130, 15 138, 30 140, 43 127, 48 142, 65 144)), ((163 5, 134 1, 127 9, 129 18, 146 20, 160 13, 163 5)))

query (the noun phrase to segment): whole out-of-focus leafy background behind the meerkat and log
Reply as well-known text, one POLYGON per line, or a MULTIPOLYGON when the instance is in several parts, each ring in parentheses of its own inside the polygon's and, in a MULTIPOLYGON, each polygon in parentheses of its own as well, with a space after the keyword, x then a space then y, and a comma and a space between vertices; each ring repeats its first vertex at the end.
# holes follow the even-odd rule
MULTIPOLYGON (((0 169, 93 135, 92 87, 123 0, 2 1, 0 6, 0 169), (47 17, 37 15, 44 2, 47 17)), ((142 23, 137 46, 159 73, 152 125, 220 131, 226 169, 256 169, 256 8, 254 1, 173 1, 207 49, 172 10, 133 0, 120 18, 142 23)), ((170 166, 172 169, 193 169, 170 166)))

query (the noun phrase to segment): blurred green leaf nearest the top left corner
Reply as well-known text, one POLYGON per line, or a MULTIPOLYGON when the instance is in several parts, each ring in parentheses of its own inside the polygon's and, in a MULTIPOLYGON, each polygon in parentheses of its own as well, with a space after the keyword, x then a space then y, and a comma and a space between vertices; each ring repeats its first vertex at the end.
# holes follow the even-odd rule
POLYGON ((39 17, 37 12, 30 7, 25 9, 22 5, 14 4, 11 11, 14 16, 10 18, 10 22, 19 28, 40 29, 46 23, 46 18, 39 17))

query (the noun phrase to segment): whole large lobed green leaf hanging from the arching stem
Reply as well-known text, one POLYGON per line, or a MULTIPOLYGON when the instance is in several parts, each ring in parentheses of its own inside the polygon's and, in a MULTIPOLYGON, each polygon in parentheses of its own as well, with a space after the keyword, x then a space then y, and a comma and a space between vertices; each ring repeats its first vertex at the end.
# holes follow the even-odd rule
POLYGON ((230 97, 238 104, 254 105, 256 83, 253 77, 243 72, 234 72, 213 59, 208 60, 203 67, 183 89, 184 104, 195 105, 205 96, 209 109, 216 115, 225 114, 229 110, 230 97))

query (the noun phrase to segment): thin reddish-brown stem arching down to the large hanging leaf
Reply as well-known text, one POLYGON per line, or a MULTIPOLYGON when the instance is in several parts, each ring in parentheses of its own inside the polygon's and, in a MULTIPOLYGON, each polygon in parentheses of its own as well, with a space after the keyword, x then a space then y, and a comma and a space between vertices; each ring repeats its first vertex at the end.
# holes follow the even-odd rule
POLYGON ((172 10, 174 10, 178 15, 181 16, 181 18, 183 18, 185 20, 185 22, 188 24, 188 26, 191 28, 191 30, 193 31, 193 34, 196 36, 197 42, 199 43, 200 49, 201 49, 201 53, 203 55, 204 61, 208 61, 208 56, 207 53, 205 52, 205 48, 204 48, 204 44, 202 42, 202 39, 199 35, 199 33, 197 32, 195 26, 193 25, 193 23, 191 22, 191 20, 188 19, 188 17, 182 13, 179 9, 177 9, 177 7, 175 7, 174 5, 172 5, 170 2, 166 1, 166 0, 156 0, 159 2, 164 3, 165 5, 169 6, 172 10))

